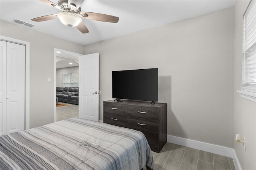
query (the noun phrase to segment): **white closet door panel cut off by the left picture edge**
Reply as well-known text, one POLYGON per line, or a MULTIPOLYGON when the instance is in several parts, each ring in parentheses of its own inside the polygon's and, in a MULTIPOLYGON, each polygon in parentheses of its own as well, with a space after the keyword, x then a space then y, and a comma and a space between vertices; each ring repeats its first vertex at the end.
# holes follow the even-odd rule
POLYGON ((0 42, 0 136, 6 134, 6 41, 0 42))

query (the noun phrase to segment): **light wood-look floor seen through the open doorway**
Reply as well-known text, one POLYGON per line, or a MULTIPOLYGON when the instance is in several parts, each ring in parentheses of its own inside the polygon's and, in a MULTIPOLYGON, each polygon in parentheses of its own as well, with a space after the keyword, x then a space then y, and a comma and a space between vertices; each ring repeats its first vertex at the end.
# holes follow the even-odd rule
POLYGON ((56 121, 78 117, 78 105, 56 107, 56 121))

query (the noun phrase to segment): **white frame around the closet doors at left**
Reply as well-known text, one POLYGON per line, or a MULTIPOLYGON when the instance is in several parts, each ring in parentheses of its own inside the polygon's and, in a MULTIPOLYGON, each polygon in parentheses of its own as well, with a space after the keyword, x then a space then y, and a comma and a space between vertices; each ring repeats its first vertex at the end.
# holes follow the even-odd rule
POLYGON ((30 43, 0 35, 0 40, 25 45, 25 130, 30 129, 30 43))

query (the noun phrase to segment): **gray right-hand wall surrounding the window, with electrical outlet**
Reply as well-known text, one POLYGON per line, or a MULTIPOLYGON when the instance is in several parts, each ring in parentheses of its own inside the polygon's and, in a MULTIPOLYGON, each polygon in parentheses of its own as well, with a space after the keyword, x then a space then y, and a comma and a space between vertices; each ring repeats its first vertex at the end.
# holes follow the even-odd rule
POLYGON ((234 43, 234 138, 246 137, 246 150, 234 140, 234 149, 243 170, 256 170, 256 103, 241 98, 242 90, 242 20, 249 0, 237 0, 235 7, 234 43))

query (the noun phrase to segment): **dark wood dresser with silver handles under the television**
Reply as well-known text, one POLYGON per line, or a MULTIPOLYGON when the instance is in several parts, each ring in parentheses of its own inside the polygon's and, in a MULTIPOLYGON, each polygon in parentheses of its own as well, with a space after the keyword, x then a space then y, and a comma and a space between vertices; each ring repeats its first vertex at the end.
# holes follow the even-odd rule
POLYGON ((103 107, 104 123, 141 131, 154 152, 160 152, 166 144, 166 103, 109 100, 103 102, 103 107))

